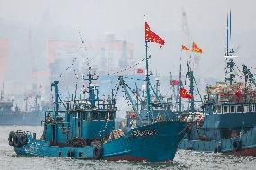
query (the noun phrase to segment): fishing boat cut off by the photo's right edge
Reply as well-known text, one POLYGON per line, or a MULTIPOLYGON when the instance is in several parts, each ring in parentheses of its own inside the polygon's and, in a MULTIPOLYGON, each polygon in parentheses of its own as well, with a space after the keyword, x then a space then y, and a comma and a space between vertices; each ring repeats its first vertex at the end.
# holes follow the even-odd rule
POLYGON ((224 82, 206 86, 203 116, 187 127, 187 135, 180 149, 221 152, 240 156, 256 156, 256 81, 251 67, 234 62, 234 51, 229 47, 231 13, 227 17, 226 78, 224 82), (244 82, 236 82, 236 76, 244 82))

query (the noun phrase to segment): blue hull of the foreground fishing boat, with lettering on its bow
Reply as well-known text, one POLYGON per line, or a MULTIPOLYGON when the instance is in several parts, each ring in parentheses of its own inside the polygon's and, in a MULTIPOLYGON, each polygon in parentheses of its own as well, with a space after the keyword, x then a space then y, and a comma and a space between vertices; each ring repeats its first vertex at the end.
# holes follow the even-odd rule
POLYGON ((40 157, 73 157, 78 159, 105 159, 164 162, 172 161, 183 139, 180 134, 186 123, 178 121, 157 122, 136 128, 125 136, 110 140, 101 146, 101 154, 96 158, 96 147, 60 147, 50 146, 44 140, 33 139, 28 135, 28 142, 22 147, 14 147, 17 155, 40 157))

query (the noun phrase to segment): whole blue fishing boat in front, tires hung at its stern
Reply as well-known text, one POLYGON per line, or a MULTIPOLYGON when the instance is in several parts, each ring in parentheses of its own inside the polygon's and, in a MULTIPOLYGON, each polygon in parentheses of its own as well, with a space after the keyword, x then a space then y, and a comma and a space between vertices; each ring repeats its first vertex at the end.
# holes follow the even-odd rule
MULTIPOLYGON (((147 51, 147 43, 146 51, 147 51)), ((150 73, 146 52, 147 110, 151 112, 150 73)), ((96 80, 89 68, 88 98, 63 102, 59 97, 58 81, 52 83, 55 91, 54 110, 45 112, 43 134, 12 131, 9 145, 14 146, 17 155, 40 157, 73 157, 78 159, 128 160, 148 162, 172 161, 183 139, 186 122, 175 120, 155 121, 148 116, 141 119, 135 105, 135 116, 124 129, 115 129, 116 100, 114 91, 108 99, 99 97, 99 90, 92 81, 96 80), (64 110, 59 109, 62 104, 64 110)), ((119 85, 127 86, 123 76, 119 85)), ((124 88, 125 90, 126 88, 124 88)), ((127 89, 126 89, 127 90, 127 89)), ((131 98, 127 93, 126 97, 131 98)))

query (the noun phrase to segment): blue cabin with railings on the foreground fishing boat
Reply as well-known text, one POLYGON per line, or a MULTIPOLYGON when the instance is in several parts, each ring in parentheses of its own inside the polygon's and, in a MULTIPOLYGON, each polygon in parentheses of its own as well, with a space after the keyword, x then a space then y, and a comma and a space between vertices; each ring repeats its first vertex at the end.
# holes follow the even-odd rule
POLYGON ((99 99, 97 86, 89 84, 89 98, 74 100, 71 105, 70 101, 59 102, 58 81, 52 86, 55 88, 55 108, 45 112, 42 139, 51 145, 85 146, 102 141, 115 129, 116 101, 113 92, 105 102, 99 99), (66 110, 59 111, 59 103, 66 110))

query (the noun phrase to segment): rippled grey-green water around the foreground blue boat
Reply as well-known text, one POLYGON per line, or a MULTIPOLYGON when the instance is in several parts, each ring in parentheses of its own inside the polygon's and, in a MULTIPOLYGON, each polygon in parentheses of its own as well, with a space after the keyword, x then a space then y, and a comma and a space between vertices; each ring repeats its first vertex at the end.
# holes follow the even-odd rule
POLYGON ((76 160, 59 157, 17 157, 8 145, 9 131, 29 130, 41 134, 42 127, 0 126, 0 169, 256 169, 256 157, 233 157, 178 151, 172 164, 76 160))

